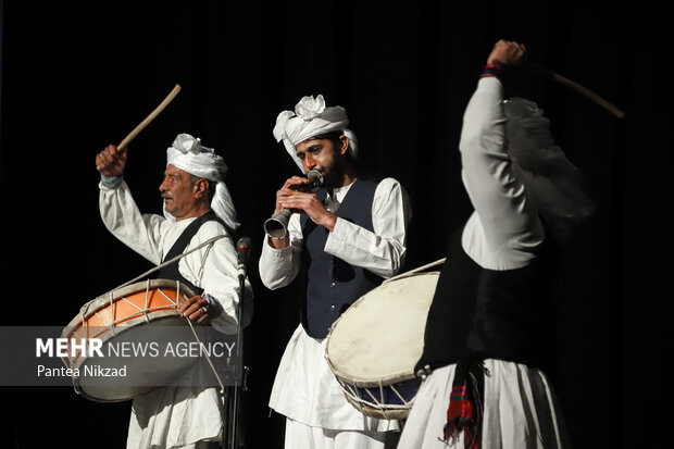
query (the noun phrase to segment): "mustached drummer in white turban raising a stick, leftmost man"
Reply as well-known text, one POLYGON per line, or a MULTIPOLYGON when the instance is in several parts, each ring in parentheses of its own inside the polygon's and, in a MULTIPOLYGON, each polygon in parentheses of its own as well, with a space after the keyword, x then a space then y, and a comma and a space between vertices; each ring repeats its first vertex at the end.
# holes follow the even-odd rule
MULTIPOLYGON (((159 277, 176 279, 196 290, 179 305, 196 323, 210 323, 226 334, 237 330, 239 280, 233 233, 239 227, 229 190, 227 166, 198 138, 179 134, 166 150, 166 170, 160 185, 164 216, 141 214, 123 179, 127 151, 108 146, 96 158, 101 173, 99 207, 108 229, 154 264, 159 277), (208 240, 210 245, 197 249, 208 240), (192 251, 194 249, 194 251, 192 251)), ((246 279, 245 322, 252 314, 252 290, 246 279)), ((195 373, 188 371, 184 378, 195 373)), ((222 401, 217 390, 180 382, 134 398, 127 448, 220 447, 222 401), (210 446, 209 446, 210 445, 210 446)), ((202 385, 202 384, 201 384, 202 385)))

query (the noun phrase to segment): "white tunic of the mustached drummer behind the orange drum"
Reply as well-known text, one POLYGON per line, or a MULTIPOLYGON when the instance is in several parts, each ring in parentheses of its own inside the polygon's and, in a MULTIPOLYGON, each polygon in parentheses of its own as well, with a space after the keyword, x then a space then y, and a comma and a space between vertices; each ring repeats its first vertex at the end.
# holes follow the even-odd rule
MULTIPOLYGON (((108 188, 102 183, 99 187, 99 207, 105 227, 152 263, 161 263, 183 230, 196 220, 173 222, 155 214, 141 214, 124 182, 116 188, 108 188)), ((222 308, 223 312, 212 320, 213 327, 234 334, 239 280, 232 237, 220 223, 207 222, 192 237, 186 251, 219 235, 225 237, 180 259, 178 270, 222 308)), ((245 325, 252 316, 252 289, 248 279, 246 299, 245 325)), ((221 402, 217 389, 207 387, 162 387, 139 396, 132 406, 127 448, 175 448, 220 440, 221 402)))

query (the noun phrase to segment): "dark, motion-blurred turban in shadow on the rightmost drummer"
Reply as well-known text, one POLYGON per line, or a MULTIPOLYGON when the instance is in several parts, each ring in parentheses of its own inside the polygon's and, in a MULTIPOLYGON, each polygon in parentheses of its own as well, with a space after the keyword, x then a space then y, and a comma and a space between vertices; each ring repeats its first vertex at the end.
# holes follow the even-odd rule
POLYGON ((573 225, 585 220, 595 204, 585 178, 564 151, 554 145, 550 121, 535 102, 523 98, 506 101, 508 152, 540 213, 558 237, 567 237, 573 225))

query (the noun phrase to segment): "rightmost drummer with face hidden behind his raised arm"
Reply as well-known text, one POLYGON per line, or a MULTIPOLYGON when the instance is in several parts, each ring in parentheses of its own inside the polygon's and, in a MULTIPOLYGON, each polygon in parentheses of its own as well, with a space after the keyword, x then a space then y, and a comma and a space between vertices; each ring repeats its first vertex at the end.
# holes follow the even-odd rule
POLYGON ((570 447, 544 366, 559 247, 594 204, 542 110, 504 97, 504 75, 525 57, 498 41, 465 109, 459 150, 474 211, 449 238, 400 449, 570 447))

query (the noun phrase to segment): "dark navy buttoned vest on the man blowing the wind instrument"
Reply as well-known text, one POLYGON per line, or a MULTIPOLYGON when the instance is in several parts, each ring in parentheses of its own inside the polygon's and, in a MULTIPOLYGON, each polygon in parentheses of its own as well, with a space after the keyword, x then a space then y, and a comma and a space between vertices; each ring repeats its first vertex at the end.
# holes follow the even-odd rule
MULTIPOLYGON (((367 230, 372 226, 372 202, 378 182, 357 179, 336 215, 367 230)), ((316 189, 321 201, 327 196, 325 189, 316 189)), ((351 265, 323 249, 328 230, 316 225, 307 215, 301 220, 304 255, 307 260, 307 298, 301 304, 302 325, 313 338, 324 338, 332 324, 358 298, 382 284, 382 277, 351 265)))

